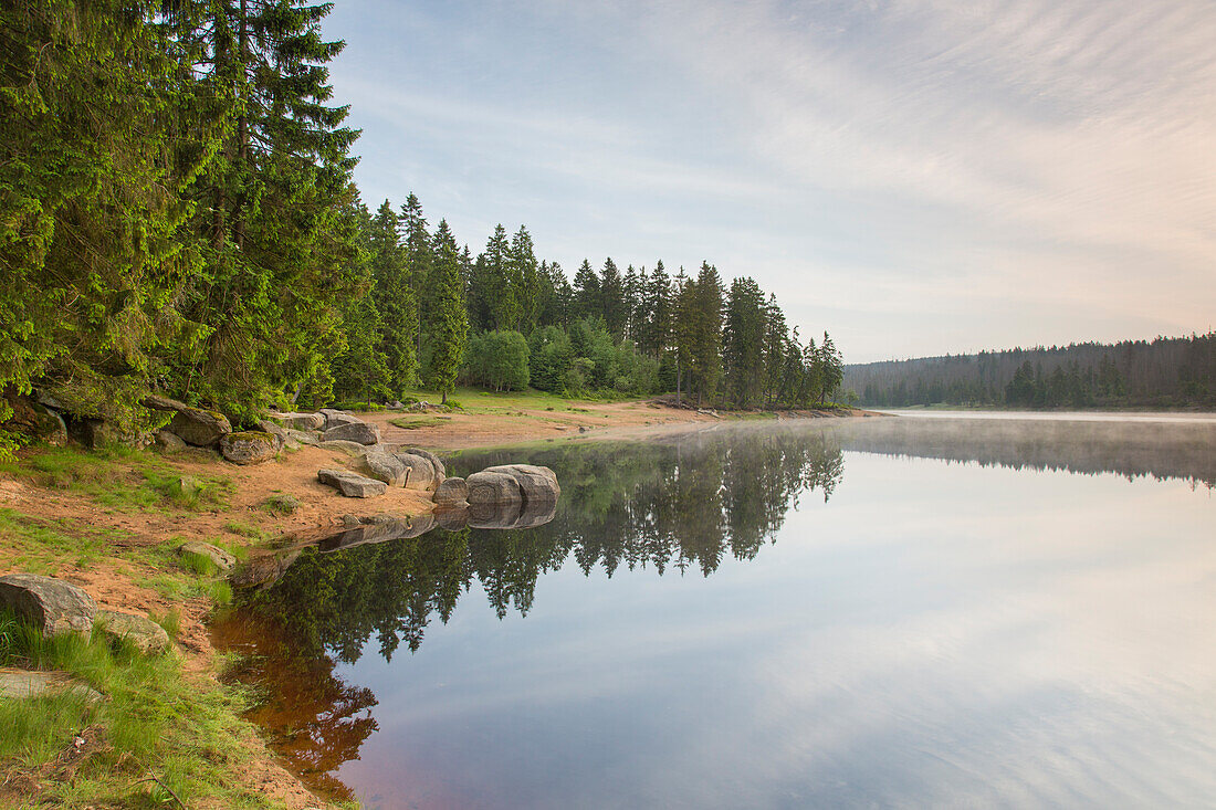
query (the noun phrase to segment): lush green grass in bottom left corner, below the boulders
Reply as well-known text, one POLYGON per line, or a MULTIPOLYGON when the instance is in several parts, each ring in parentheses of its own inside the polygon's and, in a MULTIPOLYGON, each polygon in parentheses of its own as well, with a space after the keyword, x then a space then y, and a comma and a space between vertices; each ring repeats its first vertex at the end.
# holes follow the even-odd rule
POLYGON ((71 692, 0 702, 0 782, 38 774, 40 805, 57 808, 157 806, 163 791, 187 806, 269 808, 271 801, 233 777, 252 754, 241 741, 241 692, 210 679, 187 677, 175 656, 142 657, 129 645, 41 634, 0 612, 0 665, 63 670, 107 701, 86 703, 71 692), (86 741, 69 772, 57 758, 86 741))

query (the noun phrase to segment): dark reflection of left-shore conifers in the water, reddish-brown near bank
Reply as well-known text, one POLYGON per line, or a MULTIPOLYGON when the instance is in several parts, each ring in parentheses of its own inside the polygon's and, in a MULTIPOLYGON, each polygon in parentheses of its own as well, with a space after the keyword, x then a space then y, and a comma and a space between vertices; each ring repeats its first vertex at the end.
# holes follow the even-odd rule
MULTIPOLYGON (((500 618, 512 609, 527 615, 541 574, 572 558, 587 575, 602 568, 612 576, 625 566, 708 576, 726 555, 755 557, 800 496, 814 490, 827 500, 844 472, 826 432, 796 440, 722 432, 567 444, 466 455, 455 466, 473 471, 522 456, 553 468, 562 482, 547 523, 421 535, 417 527, 339 531, 285 552, 277 579, 242 592, 215 623, 216 646, 247 653, 235 677, 271 696, 252 719, 309 787, 345 797, 330 774, 358 756, 376 729, 375 696, 333 675, 336 662, 359 660, 373 636, 385 660, 402 642, 418 649, 428 625, 446 623, 474 581, 500 618)), ((474 525, 492 524, 480 518, 474 525)))

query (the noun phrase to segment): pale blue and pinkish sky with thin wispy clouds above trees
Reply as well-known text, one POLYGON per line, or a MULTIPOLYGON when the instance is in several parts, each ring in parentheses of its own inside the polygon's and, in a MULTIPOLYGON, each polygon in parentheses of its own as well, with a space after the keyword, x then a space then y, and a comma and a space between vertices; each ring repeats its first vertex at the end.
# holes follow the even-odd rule
POLYGON ((375 208, 703 260, 846 362, 1216 327, 1211 0, 337 0, 375 208))

